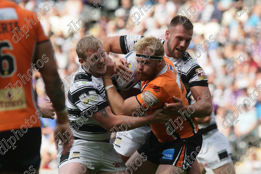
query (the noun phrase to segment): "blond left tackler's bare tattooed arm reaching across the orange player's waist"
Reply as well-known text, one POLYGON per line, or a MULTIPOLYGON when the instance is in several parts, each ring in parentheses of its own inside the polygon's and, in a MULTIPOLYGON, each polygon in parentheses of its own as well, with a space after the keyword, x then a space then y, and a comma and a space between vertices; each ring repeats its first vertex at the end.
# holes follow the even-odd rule
POLYGON ((117 116, 114 115, 111 108, 107 106, 106 108, 95 112, 91 118, 97 121, 107 131, 117 132, 119 130, 121 131, 121 128, 123 131, 128 131, 151 123, 168 121, 171 116, 161 113, 162 111, 163 109, 158 109, 152 114, 144 117, 117 116))

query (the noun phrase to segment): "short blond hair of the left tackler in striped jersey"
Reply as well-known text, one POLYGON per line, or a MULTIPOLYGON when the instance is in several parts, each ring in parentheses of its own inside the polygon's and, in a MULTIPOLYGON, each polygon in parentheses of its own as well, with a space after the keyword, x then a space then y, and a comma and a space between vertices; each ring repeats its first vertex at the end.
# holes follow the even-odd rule
POLYGON ((101 46, 103 46, 103 44, 100 39, 95 38, 93 35, 85 35, 77 42, 76 53, 79 58, 86 60, 88 52, 94 52, 101 46))

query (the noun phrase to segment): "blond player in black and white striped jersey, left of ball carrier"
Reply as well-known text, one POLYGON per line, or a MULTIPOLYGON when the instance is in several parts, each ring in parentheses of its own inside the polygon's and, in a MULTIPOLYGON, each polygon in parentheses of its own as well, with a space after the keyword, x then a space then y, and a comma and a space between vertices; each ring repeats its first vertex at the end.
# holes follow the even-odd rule
MULTIPOLYGON (((94 36, 85 35, 76 45, 81 67, 75 72, 68 92, 67 109, 72 134, 75 138, 71 149, 62 155, 62 146, 57 149, 60 174, 80 171, 82 174, 126 173, 126 165, 109 143, 111 132, 116 132, 122 117, 112 113, 108 105, 102 80, 107 65, 114 66, 112 59, 104 52, 102 43, 94 36), (108 62, 108 63, 107 63, 108 62)), ((113 68, 112 68, 113 69, 113 68)), ((108 87, 107 87, 108 88, 108 87)), ((163 109, 139 117, 128 130, 150 123, 161 123, 170 119, 163 109)))

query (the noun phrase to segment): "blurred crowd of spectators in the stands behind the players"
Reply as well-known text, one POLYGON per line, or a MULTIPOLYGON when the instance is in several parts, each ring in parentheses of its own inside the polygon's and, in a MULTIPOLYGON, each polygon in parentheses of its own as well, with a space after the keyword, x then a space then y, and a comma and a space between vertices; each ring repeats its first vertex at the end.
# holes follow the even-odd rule
MULTIPOLYGON (((197 59, 196 61, 208 77, 218 129, 230 141, 233 158, 236 159, 241 154, 241 149, 247 149, 247 145, 251 144, 253 140, 256 140, 259 146, 261 145, 260 0, 251 1, 252 4, 248 8, 243 0, 207 0, 205 2, 203 0, 55 0, 54 2, 55 5, 41 17, 40 21, 53 45, 60 77, 67 85, 69 82, 65 77, 69 79, 80 66, 75 48, 77 41, 83 35, 93 34, 95 37, 101 38, 141 34, 165 39, 165 31, 173 16, 190 15, 188 17, 194 24, 194 33, 187 51, 197 59), (100 9, 94 6, 95 2, 103 3, 103 5, 97 3, 98 7, 101 7, 100 9), (240 3, 243 7, 240 6, 240 3), (125 19, 135 20, 131 16, 135 12, 140 14, 137 5, 138 7, 143 6, 147 11, 142 9, 143 15, 140 15, 139 25, 136 21, 129 27, 126 25, 125 19), (152 6, 148 8, 150 5, 152 6), (194 15, 187 10, 191 6, 195 7, 194 15), (95 7, 95 14, 85 15, 84 18, 82 14, 90 14, 90 10, 94 13, 93 7, 95 7), (237 9, 241 9, 241 12, 237 9), (68 34, 70 22, 76 22, 80 18, 85 20, 85 30, 75 30, 76 33, 70 36, 68 34), (88 21, 86 22, 86 20, 88 21), (252 43, 255 43, 256 50, 252 43), (202 49, 199 48, 201 44, 202 49), (249 49, 250 53, 244 53, 243 50, 246 49, 249 49), (245 62, 242 64, 237 60, 240 55, 245 57, 245 62), (233 65, 229 66, 231 64, 234 65, 234 68, 233 65), (254 91, 255 89, 257 90, 254 91), (250 94, 252 94, 252 98, 250 94), (249 99, 250 104, 245 99, 249 99), (239 109, 242 111, 240 112, 236 104, 244 106, 244 101, 249 106, 245 107, 245 110, 240 107, 239 109), (238 121, 235 121, 230 115, 233 113, 236 116, 234 110, 238 112, 238 121), (228 117, 231 117, 231 120, 228 117), (228 124, 224 122, 224 119, 228 120, 228 124)), ((21 0, 18 3, 21 7, 37 12, 38 7, 42 8, 48 1, 21 0)), ((194 10, 192 9, 192 11, 194 10)), ((82 22, 80 21, 80 23, 82 22)), ((112 53, 110 56, 123 57, 123 55, 112 53)), ((242 56, 241 60, 243 60, 242 56)), ((38 102, 48 100, 39 74, 35 75, 35 87, 38 102)), ((53 120, 43 120, 41 168, 57 168, 53 124, 55 124, 53 120)), ((260 157, 261 149, 258 147, 246 158, 244 170, 252 171, 252 173, 261 171, 260 157)))

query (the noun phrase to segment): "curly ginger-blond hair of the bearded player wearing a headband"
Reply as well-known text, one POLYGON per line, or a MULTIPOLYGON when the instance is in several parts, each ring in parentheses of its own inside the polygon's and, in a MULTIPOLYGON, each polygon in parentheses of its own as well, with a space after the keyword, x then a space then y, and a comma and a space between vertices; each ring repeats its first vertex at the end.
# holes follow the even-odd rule
POLYGON ((143 53, 143 50, 148 49, 151 56, 164 56, 164 48, 160 39, 155 38, 154 36, 148 36, 141 38, 138 42, 133 45, 133 50, 139 53, 143 53), (151 53, 152 51, 153 53, 151 53))

